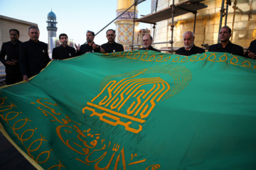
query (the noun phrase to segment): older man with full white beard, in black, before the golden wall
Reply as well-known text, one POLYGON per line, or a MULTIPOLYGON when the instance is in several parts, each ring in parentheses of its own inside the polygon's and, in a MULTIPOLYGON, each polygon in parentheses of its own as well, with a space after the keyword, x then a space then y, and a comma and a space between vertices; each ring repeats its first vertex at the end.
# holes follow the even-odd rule
POLYGON ((194 40, 195 40, 195 35, 191 31, 187 31, 186 33, 183 34, 183 42, 184 42, 184 47, 179 48, 176 51, 176 55, 196 55, 200 54, 203 52, 206 52, 203 50, 201 47, 196 47, 194 45, 194 40))

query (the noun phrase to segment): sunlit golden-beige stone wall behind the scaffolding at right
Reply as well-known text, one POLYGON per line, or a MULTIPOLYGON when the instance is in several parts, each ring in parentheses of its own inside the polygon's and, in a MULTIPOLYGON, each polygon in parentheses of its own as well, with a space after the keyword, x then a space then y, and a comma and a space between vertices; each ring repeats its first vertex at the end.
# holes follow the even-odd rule
MULTIPOLYGON (((181 1, 175 1, 177 4, 181 1)), ((199 10, 196 20, 195 44, 213 45, 218 42, 218 29, 220 24, 221 0, 202 1, 208 8, 199 10)), ((172 0, 159 0, 157 11, 172 4, 172 0)), ((225 4, 226 8, 226 4, 225 4)), ((233 30, 230 38, 231 42, 248 47, 252 40, 256 38, 256 0, 233 0, 228 6, 227 26, 233 30)), ((183 33, 188 30, 193 31, 194 15, 187 13, 174 18, 174 47, 183 47, 183 33)), ((225 24, 225 17, 223 24, 225 24)), ((157 23, 155 29, 154 42, 166 42, 171 40, 171 18, 168 21, 157 23)), ((153 35, 153 33, 152 33, 153 35)), ((170 44, 155 45, 156 48, 171 47, 170 44)))

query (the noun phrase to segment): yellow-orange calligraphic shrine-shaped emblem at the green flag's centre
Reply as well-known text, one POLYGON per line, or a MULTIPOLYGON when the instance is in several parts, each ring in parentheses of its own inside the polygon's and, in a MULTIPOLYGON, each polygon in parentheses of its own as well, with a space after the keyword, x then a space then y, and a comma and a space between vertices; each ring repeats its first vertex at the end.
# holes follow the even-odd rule
POLYGON ((100 85, 100 94, 87 102, 82 113, 138 133, 156 104, 178 94, 191 78, 190 70, 174 65, 108 76, 100 85))

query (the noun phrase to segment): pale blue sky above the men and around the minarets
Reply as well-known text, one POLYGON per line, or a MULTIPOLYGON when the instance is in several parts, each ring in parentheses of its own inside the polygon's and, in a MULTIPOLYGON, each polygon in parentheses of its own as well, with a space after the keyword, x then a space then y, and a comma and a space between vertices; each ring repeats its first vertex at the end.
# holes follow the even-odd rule
MULTIPOLYGON (((39 40, 48 43, 47 15, 51 11, 57 16, 57 37, 66 33, 76 44, 86 42, 86 31, 95 34, 116 18, 117 0, 0 0, 0 15, 22 21, 37 23, 40 30, 39 40)), ((138 18, 151 13, 151 0, 138 5, 138 18)), ((139 23, 139 29, 148 28, 150 24, 139 23)), ((107 42, 107 29, 116 29, 114 22, 95 36, 95 43, 107 42)))

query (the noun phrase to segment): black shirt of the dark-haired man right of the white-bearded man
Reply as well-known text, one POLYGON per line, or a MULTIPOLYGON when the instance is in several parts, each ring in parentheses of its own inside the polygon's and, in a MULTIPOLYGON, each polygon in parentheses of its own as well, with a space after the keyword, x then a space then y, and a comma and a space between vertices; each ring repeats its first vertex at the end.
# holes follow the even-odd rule
POLYGON ((240 55, 242 57, 244 56, 243 48, 240 45, 235 45, 235 44, 231 43, 230 41, 228 42, 227 45, 225 45, 224 48, 222 47, 222 45, 220 43, 215 44, 215 45, 210 45, 208 51, 209 52, 228 52, 233 55, 240 55))

